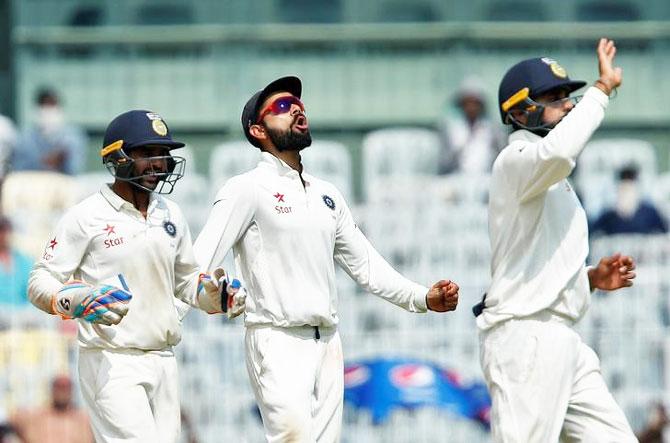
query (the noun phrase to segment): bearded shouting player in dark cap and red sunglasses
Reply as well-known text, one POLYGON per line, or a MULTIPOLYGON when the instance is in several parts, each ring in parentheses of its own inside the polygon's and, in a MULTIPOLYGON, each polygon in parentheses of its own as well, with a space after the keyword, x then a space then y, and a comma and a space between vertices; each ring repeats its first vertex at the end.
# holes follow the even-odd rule
POLYGON ((400 275, 356 227, 340 192, 303 169, 311 136, 301 92, 297 77, 283 77, 246 103, 242 129, 261 160, 218 192, 195 251, 207 270, 233 249, 248 291, 247 372, 267 441, 331 443, 344 384, 335 262, 411 312, 454 310, 458 285, 429 289, 400 275))

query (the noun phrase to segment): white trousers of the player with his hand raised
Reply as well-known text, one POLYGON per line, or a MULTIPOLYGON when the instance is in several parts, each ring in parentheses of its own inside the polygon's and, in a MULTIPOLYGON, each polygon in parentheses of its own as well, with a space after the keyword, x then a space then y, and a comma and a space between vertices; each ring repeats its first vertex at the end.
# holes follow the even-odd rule
POLYGON ((480 333, 493 441, 637 442, 600 361, 568 320, 540 313, 480 333))

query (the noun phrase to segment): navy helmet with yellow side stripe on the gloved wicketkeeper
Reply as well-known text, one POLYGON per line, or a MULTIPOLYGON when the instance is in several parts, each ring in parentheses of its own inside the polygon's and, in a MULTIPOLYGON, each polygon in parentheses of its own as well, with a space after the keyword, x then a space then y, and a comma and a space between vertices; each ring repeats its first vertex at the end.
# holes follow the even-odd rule
POLYGON ((159 145, 168 149, 184 146, 172 140, 170 129, 159 114, 146 110, 133 110, 117 116, 107 126, 102 144, 102 156, 111 145, 127 150, 138 146, 159 145), (121 143, 119 143, 121 142, 121 143))

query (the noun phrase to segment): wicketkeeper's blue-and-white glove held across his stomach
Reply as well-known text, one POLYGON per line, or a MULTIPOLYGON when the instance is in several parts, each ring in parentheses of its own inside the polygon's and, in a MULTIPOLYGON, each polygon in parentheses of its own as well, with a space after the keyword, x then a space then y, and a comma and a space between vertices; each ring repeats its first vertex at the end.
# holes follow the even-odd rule
POLYGON ((54 295, 51 307, 66 319, 81 318, 90 323, 111 326, 118 324, 128 313, 128 302, 132 297, 129 292, 115 286, 91 286, 72 281, 54 295))

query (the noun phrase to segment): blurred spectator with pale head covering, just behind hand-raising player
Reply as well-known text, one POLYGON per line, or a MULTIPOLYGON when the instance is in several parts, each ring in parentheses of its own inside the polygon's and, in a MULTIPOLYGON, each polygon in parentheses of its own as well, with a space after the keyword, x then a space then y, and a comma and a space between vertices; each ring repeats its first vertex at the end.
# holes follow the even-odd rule
POLYGON ((484 88, 476 79, 463 81, 454 97, 456 115, 442 118, 438 131, 444 143, 439 172, 488 174, 505 145, 500 125, 486 117, 484 88))

